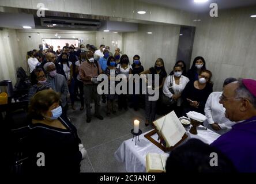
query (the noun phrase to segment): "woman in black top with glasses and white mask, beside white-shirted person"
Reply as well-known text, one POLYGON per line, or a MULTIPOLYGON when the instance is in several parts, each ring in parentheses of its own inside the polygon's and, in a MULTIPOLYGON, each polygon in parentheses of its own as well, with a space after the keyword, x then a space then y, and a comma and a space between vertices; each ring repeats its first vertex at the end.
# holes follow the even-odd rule
POLYGON ((204 114, 205 103, 209 94, 212 93, 213 84, 210 81, 211 78, 212 72, 202 70, 198 75, 197 81, 187 83, 182 92, 184 102, 183 115, 190 111, 204 114))

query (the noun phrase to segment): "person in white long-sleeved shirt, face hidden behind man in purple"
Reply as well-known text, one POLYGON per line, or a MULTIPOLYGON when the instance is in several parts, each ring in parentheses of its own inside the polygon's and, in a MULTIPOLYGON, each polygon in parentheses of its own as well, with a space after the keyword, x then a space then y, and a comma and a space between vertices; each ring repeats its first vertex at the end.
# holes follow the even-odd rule
MULTIPOLYGON (((237 81, 235 78, 227 78, 223 83, 223 88, 231 82, 237 81)), ((228 132, 235 123, 225 117, 225 108, 219 103, 219 100, 225 101, 222 91, 216 91, 209 95, 205 104, 205 127, 222 135, 228 132)))

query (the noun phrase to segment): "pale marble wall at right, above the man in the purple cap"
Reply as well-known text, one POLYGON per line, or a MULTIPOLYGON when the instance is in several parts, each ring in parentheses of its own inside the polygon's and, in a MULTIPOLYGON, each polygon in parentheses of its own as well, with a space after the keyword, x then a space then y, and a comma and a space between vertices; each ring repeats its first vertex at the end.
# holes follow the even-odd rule
POLYGON ((214 90, 225 78, 256 79, 256 7, 219 11, 219 17, 202 14, 195 30, 191 63, 203 56, 213 72, 214 90))

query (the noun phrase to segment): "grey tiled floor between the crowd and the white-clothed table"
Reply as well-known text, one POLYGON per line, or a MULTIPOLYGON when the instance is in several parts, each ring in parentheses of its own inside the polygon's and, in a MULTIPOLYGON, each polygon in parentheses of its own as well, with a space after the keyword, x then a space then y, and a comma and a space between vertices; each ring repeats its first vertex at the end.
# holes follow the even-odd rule
MULTIPOLYGON (((86 122, 86 110, 80 111, 80 104, 76 102, 77 110, 69 110, 68 116, 77 127, 78 136, 84 144, 88 156, 82 160, 81 172, 126 172, 125 164, 115 160, 114 153, 122 141, 132 137, 130 131, 133 121, 140 120, 142 132, 152 129, 145 127, 144 109, 135 112, 133 109, 117 112, 116 115, 106 116, 107 104, 101 102, 101 115, 104 120, 93 117, 90 123, 86 122)), ((92 113, 94 105, 92 104, 92 113)))

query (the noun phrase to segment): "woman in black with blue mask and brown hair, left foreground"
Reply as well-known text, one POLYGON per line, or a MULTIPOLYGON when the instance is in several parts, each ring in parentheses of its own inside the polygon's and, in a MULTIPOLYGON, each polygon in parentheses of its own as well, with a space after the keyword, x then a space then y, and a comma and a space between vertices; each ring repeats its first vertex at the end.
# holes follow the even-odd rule
POLYGON ((32 173, 79 173, 86 156, 77 129, 62 115, 59 95, 36 93, 29 106, 29 166, 32 173), (40 156, 39 156, 40 155, 40 156))

